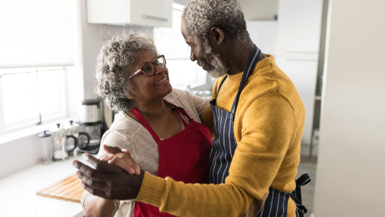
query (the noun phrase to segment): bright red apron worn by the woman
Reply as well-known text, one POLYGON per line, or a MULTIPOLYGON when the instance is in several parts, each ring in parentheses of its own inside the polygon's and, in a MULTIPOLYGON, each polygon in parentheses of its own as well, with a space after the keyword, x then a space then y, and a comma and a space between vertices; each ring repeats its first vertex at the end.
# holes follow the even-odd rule
MULTIPOLYGON (((172 105, 171 103, 169 103, 172 105)), ((176 181, 184 183, 208 183, 209 182, 209 156, 211 136, 208 127, 195 122, 181 107, 175 107, 184 127, 181 132, 174 136, 161 140, 150 127, 144 117, 136 108, 131 112, 141 124, 146 127, 154 137, 159 149, 159 167, 157 176, 171 177, 176 181), (182 113, 189 120, 189 124, 181 117, 182 113)), ((174 216, 166 212, 159 212, 158 207, 135 202, 134 217, 159 217, 174 216)))

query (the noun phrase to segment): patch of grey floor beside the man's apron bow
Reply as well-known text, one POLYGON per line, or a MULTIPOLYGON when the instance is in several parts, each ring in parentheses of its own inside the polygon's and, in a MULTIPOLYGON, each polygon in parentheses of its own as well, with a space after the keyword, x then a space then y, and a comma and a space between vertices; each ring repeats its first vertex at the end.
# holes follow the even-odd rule
POLYGON ((311 213, 313 212, 316 165, 316 157, 310 158, 305 156, 301 156, 301 161, 298 165, 296 178, 301 176, 303 173, 308 173, 311 178, 311 181, 307 185, 301 187, 302 203, 308 209, 308 213, 305 214, 304 217, 311 217, 311 213))

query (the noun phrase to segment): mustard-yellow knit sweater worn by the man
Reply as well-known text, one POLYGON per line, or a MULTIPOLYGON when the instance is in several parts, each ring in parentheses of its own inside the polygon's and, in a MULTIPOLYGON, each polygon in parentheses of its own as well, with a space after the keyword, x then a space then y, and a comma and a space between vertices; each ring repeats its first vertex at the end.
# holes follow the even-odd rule
MULTIPOLYGON (((243 72, 229 75, 219 92, 217 107, 229 111, 243 72)), ((219 78, 213 88, 217 95, 219 78)), ((211 110, 201 115, 211 126, 211 110)), ((291 80, 273 56, 259 61, 239 97, 234 119, 238 147, 224 184, 184 184, 146 173, 137 201, 177 216, 238 216, 253 198, 261 199, 269 186, 282 192, 295 189, 305 109, 291 80)), ((212 129, 211 129, 212 130, 212 129)), ((288 217, 295 217, 289 200, 288 217)))

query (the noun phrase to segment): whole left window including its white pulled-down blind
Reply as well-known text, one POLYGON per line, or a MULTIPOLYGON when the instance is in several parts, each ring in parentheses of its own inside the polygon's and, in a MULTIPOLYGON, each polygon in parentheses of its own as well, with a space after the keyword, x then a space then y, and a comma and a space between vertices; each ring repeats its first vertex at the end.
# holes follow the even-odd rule
POLYGON ((72 1, 0 1, 0 134, 67 116, 72 1))

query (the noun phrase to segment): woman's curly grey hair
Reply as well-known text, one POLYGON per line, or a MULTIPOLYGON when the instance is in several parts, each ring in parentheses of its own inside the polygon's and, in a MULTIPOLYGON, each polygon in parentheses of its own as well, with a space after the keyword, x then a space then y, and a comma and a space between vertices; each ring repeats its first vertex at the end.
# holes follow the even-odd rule
POLYGON ((135 58, 145 50, 159 55, 154 41, 138 34, 114 36, 100 50, 95 67, 95 93, 112 110, 132 109, 131 100, 126 98, 132 88, 127 78, 135 58))

